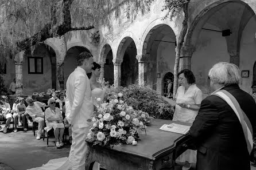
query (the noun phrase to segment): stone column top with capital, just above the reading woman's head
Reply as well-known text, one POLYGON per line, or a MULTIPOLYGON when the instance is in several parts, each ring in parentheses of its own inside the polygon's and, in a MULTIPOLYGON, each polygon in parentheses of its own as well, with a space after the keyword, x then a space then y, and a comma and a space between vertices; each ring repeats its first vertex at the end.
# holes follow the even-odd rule
POLYGON ((179 70, 191 70, 191 57, 193 52, 195 52, 195 47, 192 45, 186 45, 181 48, 179 70))

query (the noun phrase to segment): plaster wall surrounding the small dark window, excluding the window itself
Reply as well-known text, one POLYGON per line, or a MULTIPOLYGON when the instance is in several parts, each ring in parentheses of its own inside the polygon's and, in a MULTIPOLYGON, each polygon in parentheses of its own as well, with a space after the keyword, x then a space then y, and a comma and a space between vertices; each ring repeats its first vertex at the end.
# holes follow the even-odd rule
POLYGON ((46 92, 47 89, 52 88, 52 66, 49 51, 45 46, 38 46, 33 53, 33 57, 43 57, 44 74, 28 74, 28 57, 30 56, 30 53, 25 54, 23 61, 23 93, 31 95, 33 92, 46 92))

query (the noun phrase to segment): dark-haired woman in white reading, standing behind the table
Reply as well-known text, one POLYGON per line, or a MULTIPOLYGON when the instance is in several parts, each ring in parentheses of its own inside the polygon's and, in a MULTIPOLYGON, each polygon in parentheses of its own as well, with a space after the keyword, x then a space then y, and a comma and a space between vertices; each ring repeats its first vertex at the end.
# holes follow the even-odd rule
MULTIPOLYGON (((163 97, 171 105, 175 105, 173 121, 182 121, 192 123, 195 120, 197 112, 202 101, 202 92, 196 86, 196 78, 191 70, 184 69, 178 73, 179 88, 173 100, 163 97)), ((183 170, 191 168, 196 164, 196 151, 188 149, 182 153, 176 163, 183 165, 183 170), (185 164, 184 164, 185 163, 185 164)))

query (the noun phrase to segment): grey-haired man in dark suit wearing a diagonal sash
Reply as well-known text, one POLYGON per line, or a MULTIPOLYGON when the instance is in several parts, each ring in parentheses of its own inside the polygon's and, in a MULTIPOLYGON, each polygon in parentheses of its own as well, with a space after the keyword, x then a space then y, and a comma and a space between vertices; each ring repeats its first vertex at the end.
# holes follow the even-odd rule
POLYGON ((208 76, 214 91, 201 102, 189 135, 197 147, 197 170, 250 169, 256 104, 239 88, 241 72, 227 62, 215 64, 208 76))

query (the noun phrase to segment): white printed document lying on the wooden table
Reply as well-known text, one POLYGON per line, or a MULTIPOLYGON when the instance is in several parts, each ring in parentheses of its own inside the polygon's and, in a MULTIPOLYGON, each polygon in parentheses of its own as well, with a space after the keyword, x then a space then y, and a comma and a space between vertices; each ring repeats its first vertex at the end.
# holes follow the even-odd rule
POLYGON ((186 126, 186 125, 180 125, 180 124, 176 124, 176 123, 172 123, 172 124, 164 124, 161 126, 160 130, 162 131, 168 131, 168 132, 174 132, 174 133, 180 133, 185 135, 190 129, 190 126, 186 126))

